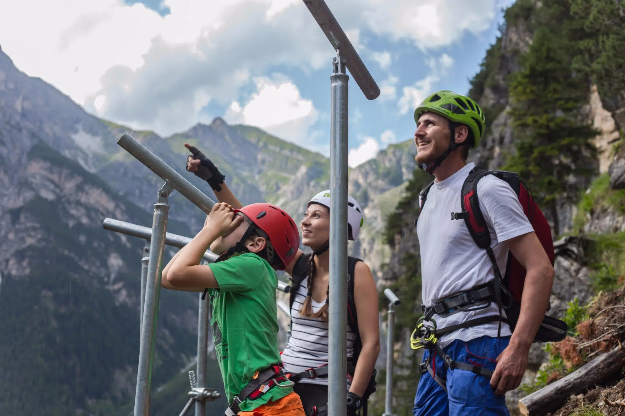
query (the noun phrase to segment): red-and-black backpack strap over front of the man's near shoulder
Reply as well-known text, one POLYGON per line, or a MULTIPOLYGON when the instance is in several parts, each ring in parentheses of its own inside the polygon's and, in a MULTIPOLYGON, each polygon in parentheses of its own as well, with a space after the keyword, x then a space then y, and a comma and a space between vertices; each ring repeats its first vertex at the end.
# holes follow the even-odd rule
POLYGON ((469 172, 469 176, 462 184, 462 192, 460 195, 460 205, 462 213, 452 212, 451 219, 464 219, 464 223, 471 233, 471 237, 481 249, 487 249, 491 246, 491 233, 488 230, 484 215, 479 207, 477 199, 477 182, 486 175, 493 174, 492 171, 486 171, 479 167, 469 172))

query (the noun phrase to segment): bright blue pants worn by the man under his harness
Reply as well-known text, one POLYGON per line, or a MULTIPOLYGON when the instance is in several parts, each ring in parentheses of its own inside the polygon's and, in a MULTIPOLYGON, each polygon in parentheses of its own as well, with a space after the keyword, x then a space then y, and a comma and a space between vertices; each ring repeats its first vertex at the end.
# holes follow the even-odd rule
MULTIPOLYGON (((483 365, 494 370, 496 359, 506 349, 510 337, 479 337, 470 341, 453 340, 444 349, 452 360, 467 364, 483 365)), ((430 352, 423 354, 425 360, 430 352)), ((509 416, 506 395, 497 396, 491 387, 491 379, 467 370, 445 369, 442 358, 434 352, 434 370, 441 379, 447 379, 447 392, 434 381, 429 372, 421 375, 414 398, 414 416, 509 416)))

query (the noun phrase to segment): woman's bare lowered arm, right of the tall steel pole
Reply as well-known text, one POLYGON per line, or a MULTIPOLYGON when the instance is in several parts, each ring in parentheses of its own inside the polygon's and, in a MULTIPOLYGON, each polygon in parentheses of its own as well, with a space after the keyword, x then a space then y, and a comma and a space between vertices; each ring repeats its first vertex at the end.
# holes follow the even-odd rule
POLYGON ((362 350, 356 363, 354 380, 349 391, 362 397, 376 366, 380 352, 379 312, 377 311, 377 287, 369 266, 357 262, 354 270, 354 303, 358 316, 358 332, 362 350), (376 307, 372 307, 376 305, 376 307))

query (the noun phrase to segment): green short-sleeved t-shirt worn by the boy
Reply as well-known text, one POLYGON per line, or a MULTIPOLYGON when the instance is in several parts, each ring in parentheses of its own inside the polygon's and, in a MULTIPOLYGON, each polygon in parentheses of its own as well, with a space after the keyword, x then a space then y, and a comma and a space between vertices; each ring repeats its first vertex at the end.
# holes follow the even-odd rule
MULTIPOLYGON (((211 290, 212 337, 226 396, 232 402, 257 371, 282 362, 277 350, 277 275, 253 253, 209 267, 219 284, 219 289, 211 290)), ((273 387, 256 400, 244 400, 241 410, 254 410, 292 391, 273 387)))

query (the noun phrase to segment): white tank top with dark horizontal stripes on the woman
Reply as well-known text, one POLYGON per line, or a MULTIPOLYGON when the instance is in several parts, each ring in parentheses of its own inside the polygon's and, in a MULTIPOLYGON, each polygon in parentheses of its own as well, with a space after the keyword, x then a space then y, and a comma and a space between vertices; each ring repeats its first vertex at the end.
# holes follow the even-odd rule
MULTIPOLYGON (((328 323, 321 318, 302 317, 299 310, 306 299, 307 280, 302 280, 297 295, 291 308, 291 338, 282 352, 282 364, 284 370, 289 373, 300 373, 309 368, 327 365, 328 323)), ((312 312, 315 313, 325 304, 312 300, 312 312)), ((347 357, 351 357, 354 351, 356 334, 347 325, 347 357)), ((327 385, 327 378, 302 379, 300 383, 327 385)), ((347 389, 351 380, 347 377, 347 389)))

